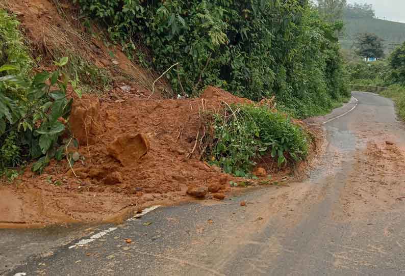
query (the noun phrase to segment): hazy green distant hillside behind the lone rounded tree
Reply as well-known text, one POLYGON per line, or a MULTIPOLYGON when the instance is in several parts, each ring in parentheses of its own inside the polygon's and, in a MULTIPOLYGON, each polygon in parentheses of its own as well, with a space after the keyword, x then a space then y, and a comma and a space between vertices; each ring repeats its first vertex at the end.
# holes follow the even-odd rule
POLYGON ((391 52, 391 44, 401 44, 405 41, 405 23, 376 18, 346 18, 344 21, 345 35, 341 38, 344 49, 351 48, 357 33, 374 33, 383 38, 386 53, 391 52))

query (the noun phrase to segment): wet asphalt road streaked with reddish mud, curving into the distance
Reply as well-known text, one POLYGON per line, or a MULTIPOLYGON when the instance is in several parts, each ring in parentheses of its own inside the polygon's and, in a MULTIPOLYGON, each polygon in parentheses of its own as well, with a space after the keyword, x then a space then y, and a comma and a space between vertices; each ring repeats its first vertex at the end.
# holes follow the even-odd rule
POLYGON ((325 124, 328 144, 308 180, 158 208, 118 227, 1 230, 0 273, 405 275, 405 130, 392 101, 353 96, 357 108, 325 124))

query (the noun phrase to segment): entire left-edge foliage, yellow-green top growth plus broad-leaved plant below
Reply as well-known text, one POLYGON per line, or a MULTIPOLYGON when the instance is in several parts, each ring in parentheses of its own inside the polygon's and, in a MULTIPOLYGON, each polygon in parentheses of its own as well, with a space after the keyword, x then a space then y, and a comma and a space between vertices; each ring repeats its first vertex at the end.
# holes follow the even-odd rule
POLYGON ((60 137, 72 104, 61 70, 68 59, 57 62, 53 73, 31 77, 32 60, 17 27, 14 17, 0 11, 0 174, 37 158, 32 170, 40 173, 51 158, 63 158, 60 137))

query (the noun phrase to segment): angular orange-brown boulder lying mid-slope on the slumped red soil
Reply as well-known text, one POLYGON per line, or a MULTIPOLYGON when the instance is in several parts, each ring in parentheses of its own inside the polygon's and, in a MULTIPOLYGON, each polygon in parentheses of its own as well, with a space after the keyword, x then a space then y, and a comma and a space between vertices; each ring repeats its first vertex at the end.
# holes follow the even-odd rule
POLYGON ((116 158, 124 167, 138 161, 149 149, 149 142, 142 134, 124 134, 107 147, 108 154, 116 158))

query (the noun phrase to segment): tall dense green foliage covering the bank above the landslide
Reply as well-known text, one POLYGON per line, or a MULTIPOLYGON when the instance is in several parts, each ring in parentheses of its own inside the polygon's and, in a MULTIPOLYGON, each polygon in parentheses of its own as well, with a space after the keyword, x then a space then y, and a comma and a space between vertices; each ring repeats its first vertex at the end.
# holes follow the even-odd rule
POLYGON ((125 48, 146 43, 158 71, 179 62, 167 74, 179 94, 215 85, 253 100, 275 95, 298 117, 348 95, 335 37, 342 25, 321 20, 307 0, 77 2, 125 48))

